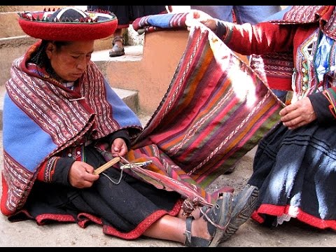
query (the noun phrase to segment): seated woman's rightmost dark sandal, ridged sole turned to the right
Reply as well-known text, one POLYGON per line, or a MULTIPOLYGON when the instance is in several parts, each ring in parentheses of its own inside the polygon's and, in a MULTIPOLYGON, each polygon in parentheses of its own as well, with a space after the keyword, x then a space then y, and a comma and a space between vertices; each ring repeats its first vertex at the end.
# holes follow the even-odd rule
POLYGON ((233 197, 231 220, 221 242, 227 241, 250 218, 255 210, 258 193, 257 187, 246 185, 241 192, 233 197))

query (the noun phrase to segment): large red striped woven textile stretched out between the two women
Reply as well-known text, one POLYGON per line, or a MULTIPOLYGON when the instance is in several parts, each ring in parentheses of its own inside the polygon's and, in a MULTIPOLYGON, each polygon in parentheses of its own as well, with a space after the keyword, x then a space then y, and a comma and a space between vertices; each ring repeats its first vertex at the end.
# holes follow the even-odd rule
POLYGON ((280 109, 257 73, 200 24, 127 159, 154 160, 147 169, 195 185, 209 199, 207 186, 279 122, 280 109))

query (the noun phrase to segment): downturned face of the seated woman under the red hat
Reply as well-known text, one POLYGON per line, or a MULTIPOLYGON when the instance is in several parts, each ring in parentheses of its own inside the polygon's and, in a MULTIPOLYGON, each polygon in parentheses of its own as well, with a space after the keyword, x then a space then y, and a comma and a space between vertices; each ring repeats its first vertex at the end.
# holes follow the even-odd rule
POLYGON ((49 43, 46 52, 55 73, 64 80, 75 81, 84 73, 93 48, 94 41, 73 41, 59 50, 49 43))

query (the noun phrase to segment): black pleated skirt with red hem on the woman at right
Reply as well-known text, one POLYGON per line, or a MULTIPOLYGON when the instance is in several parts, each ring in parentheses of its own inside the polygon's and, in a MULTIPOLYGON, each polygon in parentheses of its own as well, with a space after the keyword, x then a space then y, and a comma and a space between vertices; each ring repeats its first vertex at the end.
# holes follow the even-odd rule
POLYGON ((248 181, 259 188, 255 221, 281 223, 294 217, 336 230, 335 132, 335 123, 296 130, 279 124, 260 141, 248 181))

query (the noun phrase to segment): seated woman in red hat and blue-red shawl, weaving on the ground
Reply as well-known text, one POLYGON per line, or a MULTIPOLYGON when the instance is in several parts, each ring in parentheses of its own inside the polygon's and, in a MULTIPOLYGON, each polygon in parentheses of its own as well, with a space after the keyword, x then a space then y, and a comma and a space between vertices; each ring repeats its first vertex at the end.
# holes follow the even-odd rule
POLYGON ((142 130, 90 60, 94 40, 115 31, 115 16, 68 7, 20 13, 19 22, 41 40, 13 62, 6 82, 1 212, 10 221, 76 221, 82 227, 93 221, 123 239, 144 235, 217 246, 248 219, 255 186, 235 196, 222 193, 213 207, 186 216, 177 192, 116 167, 104 176, 94 173, 106 163, 106 151, 123 157, 142 130))

